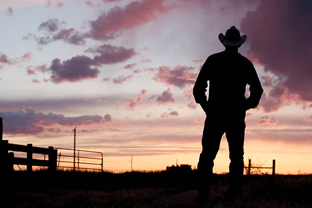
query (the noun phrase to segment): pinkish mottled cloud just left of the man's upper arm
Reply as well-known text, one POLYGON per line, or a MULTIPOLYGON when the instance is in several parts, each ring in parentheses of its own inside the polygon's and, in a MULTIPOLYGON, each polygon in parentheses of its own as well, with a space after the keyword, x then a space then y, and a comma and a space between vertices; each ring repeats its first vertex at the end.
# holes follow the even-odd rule
POLYGON ((188 66, 176 66, 173 69, 161 66, 155 69, 155 76, 152 79, 169 86, 184 88, 195 84, 197 73, 193 73, 193 69, 194 67, 188 66))

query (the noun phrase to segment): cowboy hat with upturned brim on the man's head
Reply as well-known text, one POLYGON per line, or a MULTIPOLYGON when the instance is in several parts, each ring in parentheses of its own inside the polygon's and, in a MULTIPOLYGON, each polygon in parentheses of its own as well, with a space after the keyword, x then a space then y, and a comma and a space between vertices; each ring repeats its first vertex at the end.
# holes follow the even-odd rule
POLYGON ((225 35, 220 33, 218 37, 223 45, 242 45, 247 38, 246 35, 241 36, 240 31, 237 30, 235 26, 228 29, 225 35))

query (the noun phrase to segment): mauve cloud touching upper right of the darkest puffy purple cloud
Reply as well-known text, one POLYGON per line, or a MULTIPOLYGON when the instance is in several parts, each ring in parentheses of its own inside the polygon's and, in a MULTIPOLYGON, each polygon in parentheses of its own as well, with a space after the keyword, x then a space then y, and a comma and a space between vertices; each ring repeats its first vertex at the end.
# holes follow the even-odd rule
POLYGON ((86 52, 99 54, 93 58, 98 64, 115 64, 126 61, 137 55, 135 49, 125 48, 123 46, 114 46, 110 44, 103 44, 100 46, 90 47, 86 52))

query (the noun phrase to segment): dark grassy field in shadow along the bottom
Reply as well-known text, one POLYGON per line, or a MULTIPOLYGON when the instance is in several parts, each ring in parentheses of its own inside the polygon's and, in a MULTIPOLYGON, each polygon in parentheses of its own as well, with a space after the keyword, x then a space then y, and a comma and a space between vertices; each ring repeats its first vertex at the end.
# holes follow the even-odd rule
POLYGON ((244 176, 240 200, 227 201, 227 175, 214 175, 197 204, 196 171, 122 174, 15 171, 2 176, 0 207, 312 207, 312 175, 244 176))

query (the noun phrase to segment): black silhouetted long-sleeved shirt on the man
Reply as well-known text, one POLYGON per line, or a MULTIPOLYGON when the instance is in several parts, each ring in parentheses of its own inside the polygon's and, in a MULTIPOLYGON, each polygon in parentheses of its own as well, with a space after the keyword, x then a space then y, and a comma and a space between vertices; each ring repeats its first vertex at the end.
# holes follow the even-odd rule
POLYGON ((237 51, 224 50, 209 56, 203 64, 193 87, 197 103, 207 102, 217 109, 256 108, 262 96, 263 88, 256 70, 246 57, 237 51), (209 81, 209 98, 207 91, 209 81), (246 99, 246 85, 250 96, 246 99))

